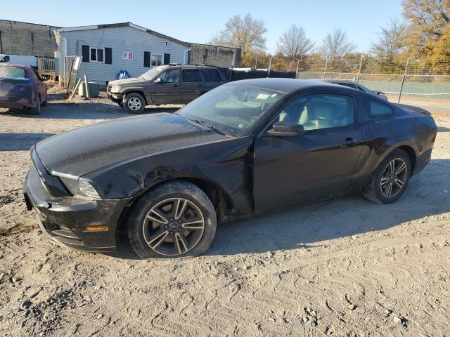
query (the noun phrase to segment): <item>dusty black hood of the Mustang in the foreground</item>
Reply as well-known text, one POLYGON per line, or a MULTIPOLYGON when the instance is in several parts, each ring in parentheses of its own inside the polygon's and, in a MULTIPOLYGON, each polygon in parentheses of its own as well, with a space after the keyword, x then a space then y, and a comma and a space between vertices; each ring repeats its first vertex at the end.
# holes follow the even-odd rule
POLYGON ((49 173, 79 177, 129 159, 229 138, 177 114, 147 114, 47 138, 36 152, 49 173))

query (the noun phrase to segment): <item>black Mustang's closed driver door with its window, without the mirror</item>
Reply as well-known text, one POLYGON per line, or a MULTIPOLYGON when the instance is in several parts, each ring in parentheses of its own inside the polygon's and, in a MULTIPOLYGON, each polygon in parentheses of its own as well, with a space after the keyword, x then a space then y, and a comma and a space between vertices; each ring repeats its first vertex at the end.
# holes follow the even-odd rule
POLYGON ((285 104, 255 139, 255 210, 345 192, 363 142, 350 95, 303 95, 285 104), (277 121, 304 126, 304 136, 269 136, 277 121))

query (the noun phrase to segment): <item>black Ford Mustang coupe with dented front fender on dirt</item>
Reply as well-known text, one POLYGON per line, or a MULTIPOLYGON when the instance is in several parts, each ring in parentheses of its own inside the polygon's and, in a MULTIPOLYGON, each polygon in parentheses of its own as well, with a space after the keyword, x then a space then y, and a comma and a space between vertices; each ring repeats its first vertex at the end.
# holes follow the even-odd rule
POLYGON ((141 258, 196 256, 217 221, 361 190, 396 201, 430 161, 436 125, 416 107, 297 79, 219 86, 175 114, 115 119, 32 147, 27 208, 51 241, 141 258))

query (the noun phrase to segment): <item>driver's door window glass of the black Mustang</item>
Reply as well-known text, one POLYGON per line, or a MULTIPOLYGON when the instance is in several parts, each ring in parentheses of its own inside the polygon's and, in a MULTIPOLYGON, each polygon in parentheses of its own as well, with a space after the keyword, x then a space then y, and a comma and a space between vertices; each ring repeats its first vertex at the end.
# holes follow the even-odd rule
POLYGON ((344 95, 307 95, 288 103, 276 121, 302 124, 304 130, 337 128, 354 122, 354 99, 344 95))

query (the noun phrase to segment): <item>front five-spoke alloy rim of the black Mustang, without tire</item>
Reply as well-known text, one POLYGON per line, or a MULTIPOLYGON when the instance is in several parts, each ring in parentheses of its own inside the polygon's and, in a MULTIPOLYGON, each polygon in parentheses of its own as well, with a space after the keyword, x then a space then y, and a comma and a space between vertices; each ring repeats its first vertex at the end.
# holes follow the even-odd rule
POLYGON ((200 242, 205 218, 193 201, 168 198, 148 211, 142 230, 150 249, 163 256, 177 256, 191 251, 200 242))

